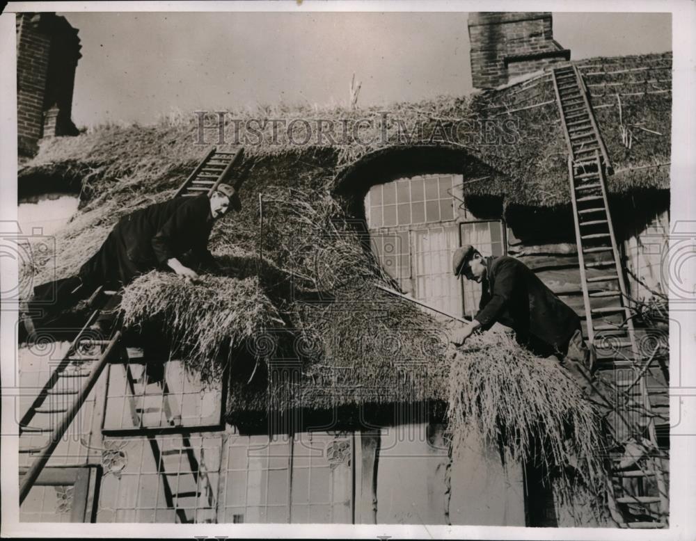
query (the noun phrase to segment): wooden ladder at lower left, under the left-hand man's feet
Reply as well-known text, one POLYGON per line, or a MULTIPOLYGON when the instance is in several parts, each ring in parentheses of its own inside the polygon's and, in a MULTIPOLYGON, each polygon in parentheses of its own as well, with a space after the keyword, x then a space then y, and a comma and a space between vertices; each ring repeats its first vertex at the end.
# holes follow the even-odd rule
MULTIPOLYGON (((93 299, 100 293, 104 296, 113 294, 98 289, 93 299)), ((26 453, 33 459, 20 480, 19 505, 26 499, 85 403, 104 366, 118 352, 120 325, 113 325, 109 339, 90 337, 90 325, 97 320, 105 303, 101 302, 100 308, 95 309, 87 319, 19 421, 19 453, 26 453), (37 442, 37 439, 40 441, 37 442)))

